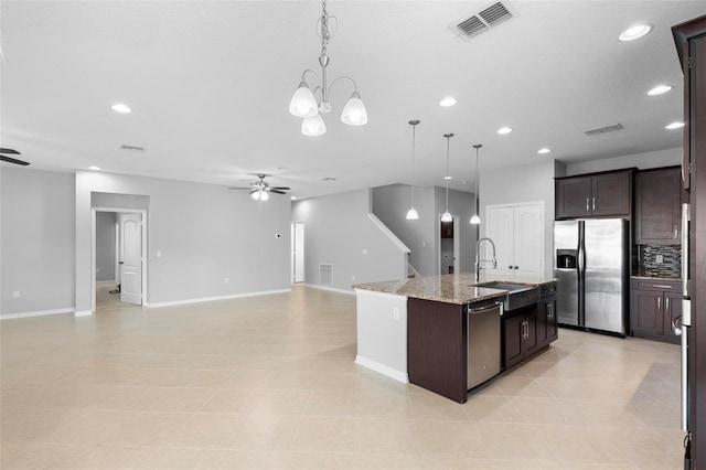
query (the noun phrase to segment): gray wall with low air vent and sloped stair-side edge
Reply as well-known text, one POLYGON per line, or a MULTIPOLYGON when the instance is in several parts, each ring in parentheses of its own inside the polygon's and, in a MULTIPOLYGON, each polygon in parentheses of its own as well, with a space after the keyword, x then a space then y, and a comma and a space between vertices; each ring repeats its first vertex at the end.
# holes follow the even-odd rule
POLYGON ((404 278, 407 255, 370 218, 370 190, 292 204, 292 222, 304 224, 304 278, 320 285, 319 265, 333 266, 332 288, 404 278), (364 253, 365 252, 365 253, 364 253))

